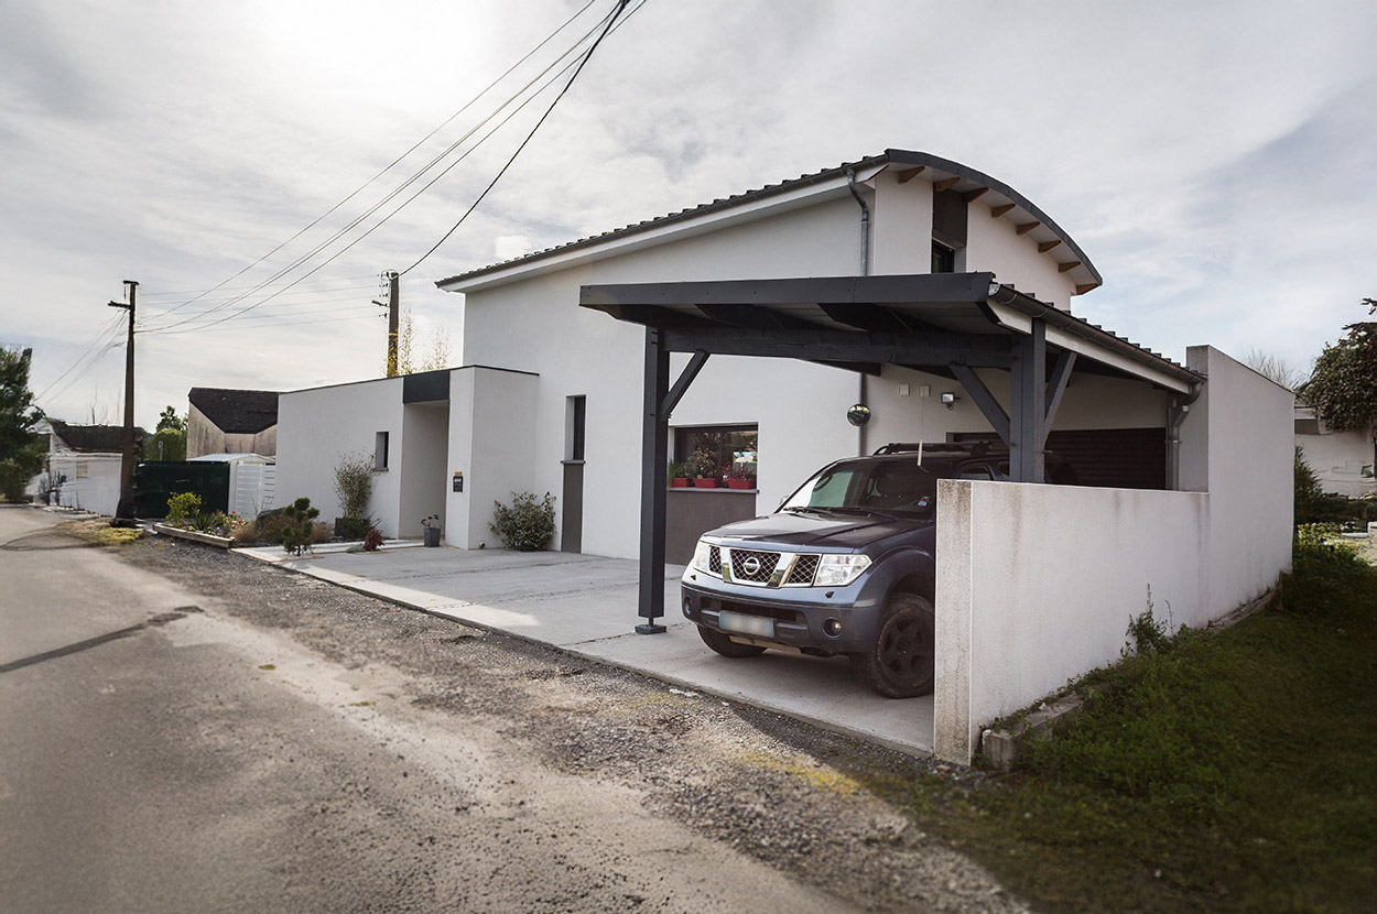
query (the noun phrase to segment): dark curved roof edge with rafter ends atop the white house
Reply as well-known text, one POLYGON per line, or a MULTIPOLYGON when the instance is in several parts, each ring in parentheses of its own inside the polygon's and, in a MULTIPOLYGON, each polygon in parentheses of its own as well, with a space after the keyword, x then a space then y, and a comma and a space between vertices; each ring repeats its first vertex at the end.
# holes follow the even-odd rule
MULTIPOLYGON (((437 286, 445 288, 448 285, 467 282, 471 279, 478 279, 481 277, 487 277, 493 274, 503 273, 504 270, 511 270, 515 267, 523 267, 530 263, 544 260, 547 257, 554 257, 558 255, 569 253, 585 248, 596 248, 600 244, 625 238, 629 235, 636 235, 644 231, 651 231, 655 228, 664 228, 672 226, 677 222, 688 222, 709 213, 731 209, 745 204, 768 200, 770 197, 777 197, 781 194, 789 194, 792 191, 808 187, 811 184, 821 184, 837 178, 844 178, 848 171, 852 169, 868 169, 868 168, 884 168, 885 165, 907 167, 907 168, 921 168, 924 171, 931 171, 934 175, 925 175, 925 178, 936 176, 938 180, 956 179, 953 187, 960 193, 974 194, 980 197, 983 194, 994 194, 994 200, 1001 200, 1004 202, 997 204, 1000 206, 1008 206, 1001 216, 1016 216, 1020 212, 1027 215, 1029 222, 1037 223, 1030 231, 1036 231, 1040 235, 1049 235, 1048 241, 1058 241, 1067 246, 1069 251, 1074 252, 1074 267, 1069 270, 1075 270, 1081 273, 1077 279, 1082 282, 1077 284, 1077 295, 1088 292, 1099 285, 1103 285, 1099 271, 1091 263, 1081 246, 1075 244, 1071 238, 1051 216, 1044 213, 1037 205, 1034 205, 1027 197, 1013 190, 1008 184, 990 178, 989 175, 954 162, 947 158, 940 158, 938 156, 931 156, 928 153, 905 150, 905 149, 887 149, 880 156, 868 156, 854 162, 843 162, 834 168, 828 168, 823 171, 812 172, 808 175, 801 175, 799 178, 784 180, 775 184, 766 184, 756 190, 748 190, 739 194, 733 194, 730 197, 719 197, 712 202, 700 204, 697 206, 688 206, 680 209, 679 212, 668 213, 665 216, 658 216, 654 219, 646 219, 643 222, 632 223, 629 226, 622 226, 621 228, 613 228, 603 231, 596 235, 588 235, 585 238, 578 238, 577 241, 569 241, 552 248, 545 248, 543 251, 536 251, 533 253, 522 255, 519 257, 512 257, 509 260, 503 260, 500 263, 493 263, 485 267, 478 267, 476 270, 468 270, 435 282, 437 286), (1088 279, 1088 282, 1085 282, 1088 279)), ((989 202, 986 200, 985 202, 989 202)), ((1026 222, 1023 223, 1027 224, 1026 222)), ((1023 226, 1020 226, 1022 228, 1023 226)), ((1023 234, 1023 233, 1020 233, 1023 234)), ((1038 234, 1034 234, 1034 240, 1038 240, 1038 234)))

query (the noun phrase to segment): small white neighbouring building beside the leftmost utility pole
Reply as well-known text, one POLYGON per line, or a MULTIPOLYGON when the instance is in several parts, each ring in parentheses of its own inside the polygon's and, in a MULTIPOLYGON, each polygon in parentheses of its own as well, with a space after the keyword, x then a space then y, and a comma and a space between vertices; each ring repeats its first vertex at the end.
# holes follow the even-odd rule
MULTIPOLYGON (((48 420, 48 468, 39 487, 48 504, 114 515, 120 507, 123 425, 69 425, 48 420)), ((139 440, 142 428, 135 429, 139 440)))

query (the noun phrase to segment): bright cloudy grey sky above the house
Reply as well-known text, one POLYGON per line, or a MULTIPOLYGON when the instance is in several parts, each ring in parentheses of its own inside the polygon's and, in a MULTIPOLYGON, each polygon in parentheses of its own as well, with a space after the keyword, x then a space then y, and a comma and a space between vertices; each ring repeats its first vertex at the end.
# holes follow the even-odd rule
POLYGON ((1305 370, 1377 296, 1374 0, 631 0, 421 259, 614 6, 0 0, 0 344, 120 423, 139 281, 151 428, 194 385, 381 374, 405 270, 457 363, 435 279, 887 147, 1022 191, 1104 277, 1073 310, 1177 361, 1305 370))

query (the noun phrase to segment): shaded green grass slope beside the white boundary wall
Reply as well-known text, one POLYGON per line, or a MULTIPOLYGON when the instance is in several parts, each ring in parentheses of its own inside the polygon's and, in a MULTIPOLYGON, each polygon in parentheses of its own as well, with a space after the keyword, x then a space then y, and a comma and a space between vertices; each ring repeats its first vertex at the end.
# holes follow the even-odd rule
POLYGON ((1377 911, 1377 570, 1297 546, 1278 604, 1095 698, 925 827, 1048 911, 1377 911))

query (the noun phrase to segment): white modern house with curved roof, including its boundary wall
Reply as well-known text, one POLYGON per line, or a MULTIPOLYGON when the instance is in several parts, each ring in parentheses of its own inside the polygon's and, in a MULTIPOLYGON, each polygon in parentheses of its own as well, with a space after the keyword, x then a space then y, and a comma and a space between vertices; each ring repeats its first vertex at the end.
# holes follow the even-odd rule
POLYGON ((940 490, 935 743, 969 758, 986 721, 1115 658, 1148 586, 1202 625, 1290 559, 1290 392, 1077 318, 1100 284, 1012 187, 887 150, 442 279, 470 365, 282 394, 280 494, 329 518, 335 463, 366 451, 384 534, 439 513, 472 549, 494 500, 549 491, 552 546, 639 557, 653 621, 666 556, 829 460, 997 438, 1040 480, 1055 450, 1081 486, 940 490), (666 460, 755 482, 666 491, 666 460))

